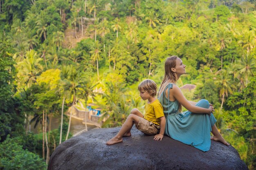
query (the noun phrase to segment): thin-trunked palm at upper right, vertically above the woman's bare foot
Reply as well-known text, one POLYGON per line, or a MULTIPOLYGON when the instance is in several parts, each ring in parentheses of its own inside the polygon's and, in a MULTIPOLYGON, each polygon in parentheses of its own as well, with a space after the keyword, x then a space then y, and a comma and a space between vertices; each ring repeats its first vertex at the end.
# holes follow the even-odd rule
POLYGON ((221 50, 221 69, 222 69, 222 63, 223 63, 223 49, 226 48, 227 44, 231 42, 231 38, 229 37, 228 33, 224 29, 220 29, 217 33, 217 40, 218 40, 218 45, 220 46, 221 50))

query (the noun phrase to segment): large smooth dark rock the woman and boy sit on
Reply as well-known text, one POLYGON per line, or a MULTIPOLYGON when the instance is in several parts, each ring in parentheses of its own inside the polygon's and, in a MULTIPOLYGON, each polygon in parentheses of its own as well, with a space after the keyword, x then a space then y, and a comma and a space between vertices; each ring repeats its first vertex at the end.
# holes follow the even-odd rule
POLYGON ((84 132, 59 145, 53 152, 48 170, 247 170, 232 146, 211 141, 202 152, 164 136, 162 141, 132 128, 132 136, 111 146, 106 141, 119 128, 84 132))

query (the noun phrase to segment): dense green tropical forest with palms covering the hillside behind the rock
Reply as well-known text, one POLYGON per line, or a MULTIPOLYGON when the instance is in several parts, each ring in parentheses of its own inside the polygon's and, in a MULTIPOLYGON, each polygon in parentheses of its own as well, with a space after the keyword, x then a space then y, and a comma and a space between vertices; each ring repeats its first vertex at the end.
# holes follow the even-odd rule
POLYGON ((65 112, 78 101, 103 108, 103 127, 121 126, 143 110, 139 82, 159 87, 177 55, 187 72, 177 84, 196 85, 184 95, 215 106, 216 126, 253 170, 255 46, 254 0, 0 0, 0 169, 46 169, 72 136, 65 112), (63 117, 58 129, 52 117, 63 117))

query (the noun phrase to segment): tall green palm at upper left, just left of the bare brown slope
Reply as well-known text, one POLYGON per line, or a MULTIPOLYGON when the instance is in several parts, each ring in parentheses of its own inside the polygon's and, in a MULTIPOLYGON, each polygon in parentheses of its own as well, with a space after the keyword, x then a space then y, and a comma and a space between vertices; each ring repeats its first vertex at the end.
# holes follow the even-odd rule
POLYGON ((46 20, 46 14, 45 11, 41 10, 40 11, 40 15, 38 15, 37 17, 37 21, 36 21, 36 33, 38 35, 38 38, 40 38, 42 40, 42 36, 44 38, 44 40, 46 40, 46 28, 48 26, 46 20))

